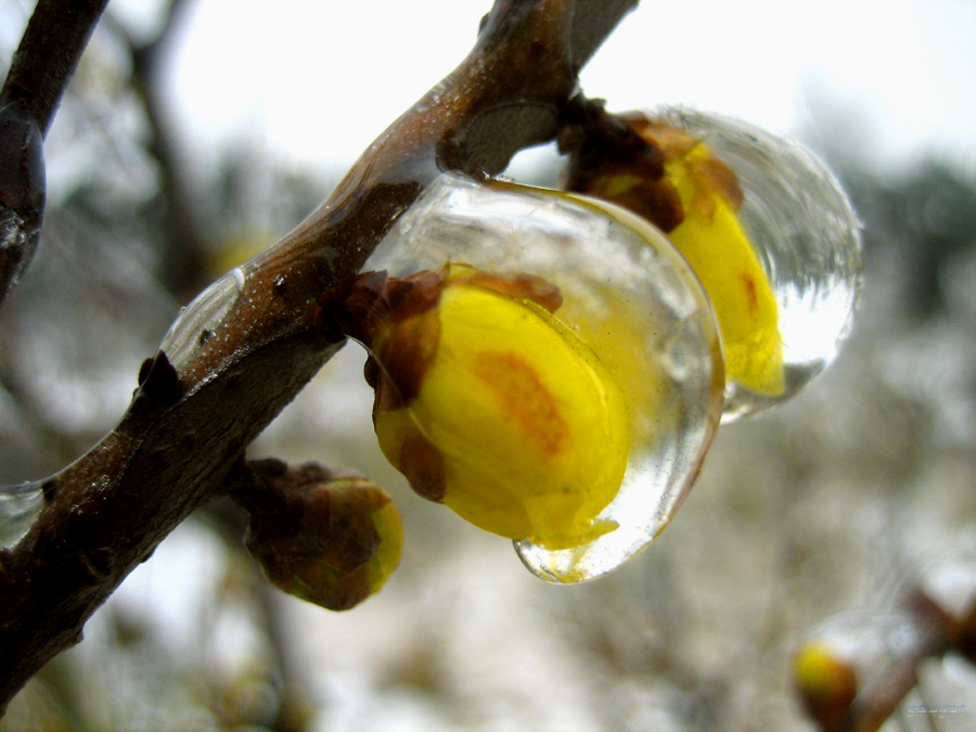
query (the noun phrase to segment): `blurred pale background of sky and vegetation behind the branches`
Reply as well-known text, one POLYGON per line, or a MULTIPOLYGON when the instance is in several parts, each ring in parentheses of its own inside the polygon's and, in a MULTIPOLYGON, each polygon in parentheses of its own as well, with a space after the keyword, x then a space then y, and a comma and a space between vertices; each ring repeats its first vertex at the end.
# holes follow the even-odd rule
MULTIPOLYGON (((310 213, 488 8, 113 0, 46 145, 39 253, 0 310, 0 484, 111 429, 179 308, 310 213)), ((0 0, 0 73, 31 9, 0 0)), ((248 453, 390 490, 406 547, 384 590, 339 614, 285 596, 215 506, 0 730, 814 730, 792 677, 806 639, 887 627, 914 588, 976 588, 973 37, 971 0, 644 0, 585 69, 611 110, 689 105, 798 137, 864 222, 835 364, 722 427, 677 519, 624 568, 547 585, 415 497, 376 447, 350 345, 248 453)), ((557 167, 542 149, 509 172, 557 167)), ((974 667, 950 654, 919 672, 884 729, 973 729, 974 667), (962 708, 912 712, 946 705, 962 708)))

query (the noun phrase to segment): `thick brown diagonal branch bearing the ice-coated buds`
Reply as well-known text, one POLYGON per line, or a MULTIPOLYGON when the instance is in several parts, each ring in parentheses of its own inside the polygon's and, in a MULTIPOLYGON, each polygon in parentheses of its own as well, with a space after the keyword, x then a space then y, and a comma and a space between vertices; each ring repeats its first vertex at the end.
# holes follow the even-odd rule
POLYGON ((119 425, 46 484, 37 524, 0 553, 0 706, 80 640, 169 531, 226 490, 247 444, 338 350, 313 326, 318 299, 360 269, 438 168, 498 172, 513 153, 552 139, 576 68, 634 4, 498 0, 468 57, 252 262, 198 347, 176 368, 164 354, 146 364, 119 425), (586 25, 596 10, 599 25, 586 25))

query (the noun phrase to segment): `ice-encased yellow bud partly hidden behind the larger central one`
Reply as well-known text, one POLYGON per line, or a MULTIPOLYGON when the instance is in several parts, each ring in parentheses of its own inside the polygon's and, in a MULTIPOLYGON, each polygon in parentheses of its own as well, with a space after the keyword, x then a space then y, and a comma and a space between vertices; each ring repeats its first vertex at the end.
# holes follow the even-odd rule
POLYGON ((836 356, 861 278, 859 222, 800 144, 686 110, 619 119, 663 156, 663 176, 609 162, 583 192, 662 227, 712 300, 727 421, 795 395, 836 356))

